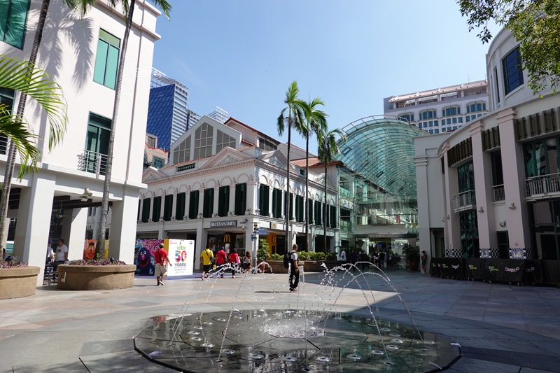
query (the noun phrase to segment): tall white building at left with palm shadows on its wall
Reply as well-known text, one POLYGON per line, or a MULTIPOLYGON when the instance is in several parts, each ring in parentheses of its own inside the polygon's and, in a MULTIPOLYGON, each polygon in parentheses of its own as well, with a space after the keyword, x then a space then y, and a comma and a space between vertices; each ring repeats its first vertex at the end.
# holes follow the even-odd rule
MULTIPOLYGON (((20 14, 19 19, 26 26, 20 35, 22 47, 13 38, 4 38, 0 41, 1 55, 29 57, 41 3, 41 0, 31 0, 29 10, 24 9, 20 14)), ((63 143, 43 153, 35 174, 27 175, 22 181, 13 180, 8 216, 17 219, 14 253, 29 265, 44 266, 52 209, 64 209, 62 238, 69 247, 69 259, 82 258, 87 208, 100 206, 102 199, 107 139, 111 130, 116 131, 116 146, 110 192, 113 218, 109 254, 127 263, 133 262, 138 195, 144 187, 141 170, 150 88, 150 76, 137 71, 151 69, 153 43, 160 38, 155 32, 160 11, 148 1, 137 0, 125 62, 119 122, 111 126, 114 80, 125 31, 119 11, 109 8, 106 1, 98 1, 81 19, 69 12, 62 1, 50 3, 38 66, 62 86, 68 103, 69 125, 63 143), (62 24, 69 32, 61 32, 62 24), (82 202, 80 196, 86 188, 92 195, 87 196, 87 202, 82 202)), ((6 26, 12 24, 0 25, 6 26)), ((3 91, 3 94, 9 96, 10 92, 3 91)), ((17 92, 12 98, 17 106, 17 92)), ((27 103, 25 117, 34 132, 41 135, 38 145, 48 149, 47 120, 33 100, 27 103)), ((5 164, 4 149, 0 154, 0 167, 4 168, 5 164)))

